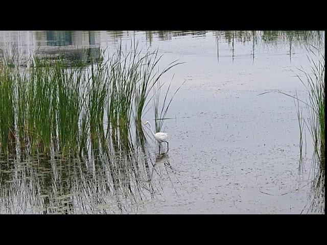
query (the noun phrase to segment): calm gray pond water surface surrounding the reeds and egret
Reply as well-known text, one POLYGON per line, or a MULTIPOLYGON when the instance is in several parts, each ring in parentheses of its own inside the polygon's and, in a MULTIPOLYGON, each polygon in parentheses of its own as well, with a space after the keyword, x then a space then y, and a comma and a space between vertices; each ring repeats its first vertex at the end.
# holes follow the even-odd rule
MULTIPOLYGON (((159 48, 160 67, 185 62, 164 76, 171 93, 183 84, 165 121, 168 153, 149 134, 144 150, 94 159, 2 157, 0 213, 311 212, 311 136, 300 167, 294 100, 258 94, 306 100, 297 68, 310 69, 306 47, 324 50, 324 32, 0 32, 0 48, 21 57, 99 46, 109 55, 137 42, 159 48)), ((154 125, 151 109, 146 120, 154 125)))

